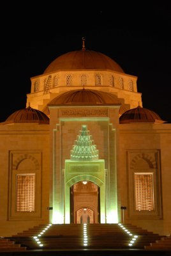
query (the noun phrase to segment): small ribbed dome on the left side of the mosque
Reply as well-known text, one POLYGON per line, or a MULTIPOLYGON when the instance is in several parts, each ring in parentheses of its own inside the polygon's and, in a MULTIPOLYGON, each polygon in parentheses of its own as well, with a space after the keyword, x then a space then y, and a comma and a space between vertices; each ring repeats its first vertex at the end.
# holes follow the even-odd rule
POLYGON ((28 107, 15 111, 4 122, 4 124, 13 123, 49 124, 49 118, 40 110, 28 107))

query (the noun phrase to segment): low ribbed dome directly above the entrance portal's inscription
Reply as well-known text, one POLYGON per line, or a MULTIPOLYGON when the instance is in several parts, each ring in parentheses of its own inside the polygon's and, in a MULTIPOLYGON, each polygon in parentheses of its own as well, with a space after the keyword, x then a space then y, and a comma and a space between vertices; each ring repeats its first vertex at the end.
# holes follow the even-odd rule
POLYGON ((62 93, 53 99, 50 105, 96 105, 96 104, 112 104, 121 105, 115 95, 107 92, 100 92, 97 90, 79 89, 71 90, 69 92, 62 93))

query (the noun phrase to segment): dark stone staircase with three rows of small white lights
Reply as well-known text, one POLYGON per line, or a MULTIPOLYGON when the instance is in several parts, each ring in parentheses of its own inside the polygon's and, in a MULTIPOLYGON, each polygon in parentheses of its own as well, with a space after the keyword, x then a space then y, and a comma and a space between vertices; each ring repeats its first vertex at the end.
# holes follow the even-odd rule
MULTIPOLYGON (((19 248, 27 251, 130 250, 130 248, 152 250, 152 244, 163 243, 167 240, 162 239, 166 238, 131 224, 46 224, 6 237, 6 241, 13 244, 14 251, 19 248)), ((4 243, 3 250, 10 248, 8 243, 4 243)))

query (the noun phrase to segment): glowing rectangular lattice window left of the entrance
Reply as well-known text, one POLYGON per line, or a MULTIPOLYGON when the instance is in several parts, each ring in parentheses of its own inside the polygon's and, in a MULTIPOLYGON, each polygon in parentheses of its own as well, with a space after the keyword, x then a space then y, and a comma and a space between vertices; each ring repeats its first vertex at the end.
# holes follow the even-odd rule
POLYGON ((17 212, 35 208, 35 174, 17 174, 17 212))

